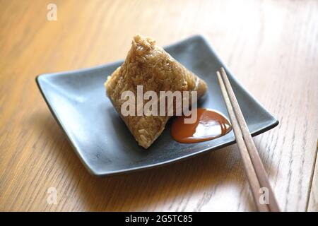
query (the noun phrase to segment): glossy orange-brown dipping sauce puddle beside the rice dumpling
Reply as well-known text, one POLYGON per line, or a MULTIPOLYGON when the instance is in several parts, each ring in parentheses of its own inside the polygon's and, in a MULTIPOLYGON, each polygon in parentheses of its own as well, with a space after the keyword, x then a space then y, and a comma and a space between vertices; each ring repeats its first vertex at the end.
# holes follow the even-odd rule
MULTIPOLYGON (((191 117, 191 116, 189 116, 191 117)), ((197 109, 196 122, 184 124, 184 118, 177 117, 172 124, 172 138, 180 143, 197 143, 209 141, 228 133, 232 126, 230 121, 220 112, 212 109, 197 109)))

